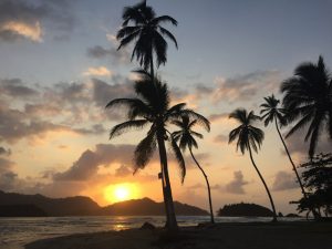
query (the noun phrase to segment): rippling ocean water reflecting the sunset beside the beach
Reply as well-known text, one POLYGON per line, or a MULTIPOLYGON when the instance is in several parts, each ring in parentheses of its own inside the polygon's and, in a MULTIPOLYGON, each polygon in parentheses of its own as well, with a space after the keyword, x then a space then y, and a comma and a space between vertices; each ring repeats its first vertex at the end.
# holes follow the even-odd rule
MULTIPOLYGON (((209 216, 178 216, 179 226, 196 226, 209 221, 209 216)), ((216 217, 216 222, 268 222, 262 217, 216 217)), ((284 221, 299 221, 303 218, 280 218, 284 221)), ((42 217, 42 218, 0 218, 0 249, 22 249, 34 240, 107 230, 138 228, 144 222, 163 226, 162 216, 97 216, 97 217, 42 217)))

